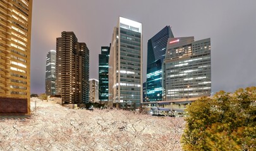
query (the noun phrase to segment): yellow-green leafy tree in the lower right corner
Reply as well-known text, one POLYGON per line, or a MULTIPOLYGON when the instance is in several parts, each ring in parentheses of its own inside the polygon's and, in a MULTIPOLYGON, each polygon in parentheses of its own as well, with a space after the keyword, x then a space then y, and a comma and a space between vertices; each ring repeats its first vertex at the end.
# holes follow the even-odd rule
POLYGON ((219 91, 187 109, 183 150, 255 150, 256 87, 219 91))

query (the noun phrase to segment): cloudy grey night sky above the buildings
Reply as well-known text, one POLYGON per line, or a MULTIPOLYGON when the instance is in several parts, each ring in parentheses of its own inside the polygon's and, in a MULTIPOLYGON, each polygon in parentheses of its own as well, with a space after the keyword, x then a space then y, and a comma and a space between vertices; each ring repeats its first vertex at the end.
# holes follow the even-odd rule
POLYGON ((101 46, 111 42, 118 16, 142 23, 143 82, 147 41, 164 26, 174 36, 211 39, 212 92, 256 86, 255 0, 34 0, 31 92, 45 92, 46 54, 61 31, 74 31, 90 50, 90 78, 98 79, 101 46))

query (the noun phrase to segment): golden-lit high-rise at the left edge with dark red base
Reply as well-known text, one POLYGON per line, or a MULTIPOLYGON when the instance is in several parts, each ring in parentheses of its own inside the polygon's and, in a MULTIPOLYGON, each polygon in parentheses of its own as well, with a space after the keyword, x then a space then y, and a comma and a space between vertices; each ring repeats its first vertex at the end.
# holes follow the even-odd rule
POLYGON ((30 114, 32 0, 0 6, 0 113, 30 114))

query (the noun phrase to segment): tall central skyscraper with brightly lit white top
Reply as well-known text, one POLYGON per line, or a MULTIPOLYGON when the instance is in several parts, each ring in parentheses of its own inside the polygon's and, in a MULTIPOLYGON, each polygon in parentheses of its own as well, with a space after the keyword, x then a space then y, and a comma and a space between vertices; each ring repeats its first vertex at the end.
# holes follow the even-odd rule
POLYGON ((119 17, 109 55, 109 101, 121 108, 142 102, 142 24, 119 17))

